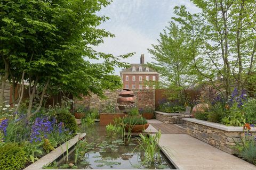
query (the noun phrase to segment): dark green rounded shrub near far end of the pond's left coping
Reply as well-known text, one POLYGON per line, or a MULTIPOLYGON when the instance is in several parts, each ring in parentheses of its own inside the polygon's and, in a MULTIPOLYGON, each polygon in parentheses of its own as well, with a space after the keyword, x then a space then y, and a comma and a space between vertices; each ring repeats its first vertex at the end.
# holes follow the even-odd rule
POLYGON ((67 110, 61 109, 58 111, 56 114, 56 119, 58 122, 63 122, 65 128, 67 128, 71 133, 75 134, 77 132, 76 118, 67 110))

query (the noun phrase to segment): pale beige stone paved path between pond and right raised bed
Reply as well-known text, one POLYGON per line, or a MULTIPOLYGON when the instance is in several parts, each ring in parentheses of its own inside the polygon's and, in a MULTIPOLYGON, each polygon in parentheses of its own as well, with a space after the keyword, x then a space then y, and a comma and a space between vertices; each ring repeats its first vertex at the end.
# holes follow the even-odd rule
POLYGON ((256 166, 187 134, 162 134, 159 146, 179 169, 256 170, 256 166))

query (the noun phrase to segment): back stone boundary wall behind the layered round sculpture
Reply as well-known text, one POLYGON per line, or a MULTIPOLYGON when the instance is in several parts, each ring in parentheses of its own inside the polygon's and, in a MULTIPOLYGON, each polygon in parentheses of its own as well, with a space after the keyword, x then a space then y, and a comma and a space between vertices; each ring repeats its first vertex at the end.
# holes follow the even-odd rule
MULTIPOLYGON (((82 96, 81 99, 75 99, 75 106, 83 105, 88 108, 97 108, 100 112, 102 112, 108 104, 114 104, 116 110, 118 111, 117 98, 118 94, 122 89, 118 89, 115 91, 105 91, 106 98, 100 98, 95 94, 91 94, 91 96, 82 96)), ((145 89, 145 90, 133 90, 134 94, 137 98, 136 105, 138 108, 151 107, 155 110, 155 90, 154 89, 145 89)))

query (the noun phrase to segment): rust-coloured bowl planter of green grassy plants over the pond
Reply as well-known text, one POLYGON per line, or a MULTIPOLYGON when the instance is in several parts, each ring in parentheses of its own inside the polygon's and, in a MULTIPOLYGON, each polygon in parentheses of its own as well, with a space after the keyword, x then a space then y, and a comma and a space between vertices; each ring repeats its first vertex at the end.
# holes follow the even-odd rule
POLYGON ((123 118, 123 123, 126 132, 129 132, 129 130, 131 132, 142 132, 149 126, 146 118, 141 116, 126 116, 123 118))

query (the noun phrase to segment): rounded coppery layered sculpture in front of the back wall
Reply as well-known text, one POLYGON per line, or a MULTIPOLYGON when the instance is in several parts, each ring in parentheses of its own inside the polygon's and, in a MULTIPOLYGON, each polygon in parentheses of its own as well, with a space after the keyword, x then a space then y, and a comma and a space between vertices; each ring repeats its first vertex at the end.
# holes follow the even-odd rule
POLYGON ((123 89, 118 96, 117 103, 120 111, 127 113, 129 108, 135 106, 136 97, 132 90, 123 89))

